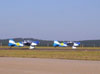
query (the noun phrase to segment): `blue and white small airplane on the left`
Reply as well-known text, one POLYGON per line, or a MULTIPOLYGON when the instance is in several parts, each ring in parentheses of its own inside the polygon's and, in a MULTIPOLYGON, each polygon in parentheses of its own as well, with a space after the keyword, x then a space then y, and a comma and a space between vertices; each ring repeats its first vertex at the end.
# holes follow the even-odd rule
POLYGON ((34 49, 36 45, 39 44, 39 41, 30 41, 25 40, 23 42, 15 42, 13 39, 9 40, 8 46, 10 47, 23 47, 23 46, 29 46, 29 49, 34 49))

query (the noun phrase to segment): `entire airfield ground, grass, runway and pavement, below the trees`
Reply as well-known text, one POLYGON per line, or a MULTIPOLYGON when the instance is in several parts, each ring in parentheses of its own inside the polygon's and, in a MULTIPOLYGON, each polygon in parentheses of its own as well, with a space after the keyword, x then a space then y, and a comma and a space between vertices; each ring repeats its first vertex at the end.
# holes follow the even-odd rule
POLYGON ((100 47, 0 47, 1 74, 99 74, 100 47))

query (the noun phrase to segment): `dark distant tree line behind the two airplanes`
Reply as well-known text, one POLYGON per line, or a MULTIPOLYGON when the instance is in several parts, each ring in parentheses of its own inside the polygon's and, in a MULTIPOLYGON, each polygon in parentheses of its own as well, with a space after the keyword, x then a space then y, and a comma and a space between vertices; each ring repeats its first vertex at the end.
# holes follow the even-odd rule
MULTIPOLYGON (((24 40, 31 40, 31 41, 39 41, 38 46, 53 46, 53 40, 41 40, 41 39, 34 39, 34 38, 13 38, 15 42, 21 42, 24 40)), ((0 39, 0 45, 7 46, 9 39, 0 39)), ((60 42, 67 42, 67 41, 60 41, 60 42)), ((100 47, 100 40, 83 40, 83 41, 75 41, 80 42, 81 47, 100 47)))

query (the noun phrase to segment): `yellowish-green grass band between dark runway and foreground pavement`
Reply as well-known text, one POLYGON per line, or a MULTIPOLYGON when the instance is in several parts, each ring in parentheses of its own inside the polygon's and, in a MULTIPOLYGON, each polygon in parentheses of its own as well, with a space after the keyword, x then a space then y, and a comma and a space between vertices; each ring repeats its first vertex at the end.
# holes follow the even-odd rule
POLYGON ((0 57, 56 58, 100 61, 100 51, 0 50, 0 57))

